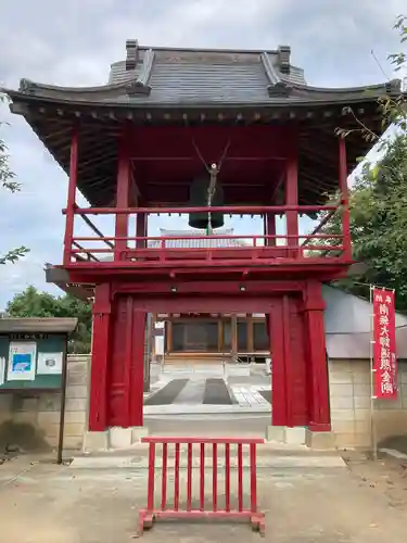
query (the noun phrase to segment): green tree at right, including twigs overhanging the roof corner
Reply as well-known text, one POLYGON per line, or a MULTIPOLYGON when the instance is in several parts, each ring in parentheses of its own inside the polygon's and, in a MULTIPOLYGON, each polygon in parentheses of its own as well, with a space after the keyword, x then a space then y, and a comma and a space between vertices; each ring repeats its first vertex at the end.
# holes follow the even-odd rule
MULTIPOLYGON (((400 37, 402 48, 407 42, 407 16, 399 15, 394 28, 400 37)), ((406 53, 389 55, 393 68, 406 66, 406 53)), ((383 127, 392 125, 397 136, 384 139, 364 125, 348 108, 358 127, 338 129, 346 138, 351 131, 359 132, 367 141, 378 144, 382 159, 366 164, 354 187, 349 189, 351 235, 353 256, 365 264, 365 270, 340 282, 353 293, 369 296, 369 285, 394 288, 398 310, 407 310, 407 103, 406 94, 383 96, 378 105, 383 127)), ((363 157, 360 159, 363 160, 363 157)), ((323 233, 341 233, 340 215, 334 215, 323 233)), ((332 242, 331 242, 332 244, 332 242)))

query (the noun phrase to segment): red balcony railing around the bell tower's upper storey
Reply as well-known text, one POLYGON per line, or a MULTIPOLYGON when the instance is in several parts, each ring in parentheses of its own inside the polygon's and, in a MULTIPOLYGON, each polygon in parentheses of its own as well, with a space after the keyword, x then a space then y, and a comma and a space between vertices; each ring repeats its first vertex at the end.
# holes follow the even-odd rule
MULTIPOLYGON (((326 217, 311 233, 282 233, 264 236, 239 236, 239 235, 212 235, 212 236, 103 236, 101 230, 93 225, 88 215, 109 215, 117 217, 123 215, 144 216, 154 214, 180 214, 188 212, 203 212, 207 207, 142 207, 142 209, 116 209, 93 207, 75 209, 75 214, 84 218, 92 229, 94 236, 74 236, 66 240, 65 264, 82 261, 92 261, 93 265, 109 265, 114 263, 137 263, 138 267, 160 267, 163 265, 191 265, 194 262, 206 261, 207 263, 236 265, 250 264, 251 262, 274 265, 284 260, 298 260, 310 257, 332 256, 338 258, 348 254, 349 239, 343 233, 319 233, 323 226, 340 209, 339 205, 325 206, 222 206, 212 207, 213 212, 221 211, 225 214, 298 214, 315 211, 326 212, 326 217), (328 217, 328 218, 327 218, 328 217)), ((128 222, 127 222, 128 223, 128 222)), ((128 228, 126 228, 126 232, 128 228)))

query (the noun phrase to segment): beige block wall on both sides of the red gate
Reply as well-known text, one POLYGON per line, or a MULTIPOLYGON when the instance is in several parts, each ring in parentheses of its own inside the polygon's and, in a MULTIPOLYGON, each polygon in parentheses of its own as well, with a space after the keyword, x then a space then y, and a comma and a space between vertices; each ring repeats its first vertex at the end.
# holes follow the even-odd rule
MULTIPOLYGON (((89 355, 68 356, 65 406, 65 450, 80 450, 87 428, 89 355)), ((369 361, 330 361, 332 430, 335 444, 369 447, 369 361)), ((399 394, 396 401, 376 401, 378 440, 407 434, 407 362, 398 364, 399 394)), ((26 392, 0 394, 0 452, 7 444, 25 450, 55 449, 60 428, 61 393, 26 392)))

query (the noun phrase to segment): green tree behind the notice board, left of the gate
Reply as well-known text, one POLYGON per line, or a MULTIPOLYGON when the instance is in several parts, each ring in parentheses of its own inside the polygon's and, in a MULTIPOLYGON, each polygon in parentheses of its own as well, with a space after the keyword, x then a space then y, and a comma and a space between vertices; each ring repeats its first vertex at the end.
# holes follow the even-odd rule
POLYGON ((69 338, 71 353, 89 353, 91 345, 92 314, 88 302, 82 302, 69 294, 53 296, 28 287, 15 294, 7 306, 11 317, 75 317, 78 326, 69 338))

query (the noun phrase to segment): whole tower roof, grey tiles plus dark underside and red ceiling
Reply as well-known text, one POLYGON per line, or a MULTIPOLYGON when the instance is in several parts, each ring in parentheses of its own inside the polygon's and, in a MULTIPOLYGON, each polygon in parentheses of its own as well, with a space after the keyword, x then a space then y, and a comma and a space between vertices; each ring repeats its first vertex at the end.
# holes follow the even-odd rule
POLYGON ((115 202, 118 141, 126 129, 133 177, 150 207, 183 205, 202 169, 196 146, 208 161, 218 160, 228 140, 221 174, 226 203, 263 204, 267 190, 278 194, 282 148, 293 132, 298 203, 322 204, 338 189, 336 129, 349 132, 351 173, 372 147, 360 136, 360 124, 383 134, 378 99, 400 93, 399 80, 336 89, 307 85, 287 46, 180 49, 128 40, 126 51, 105 85, 59 87, 22 79, 18 90, 5 89, 11 110, 25 117, 66 173, 73 127, 78 128, 77 187, 93 206, 115 202))

